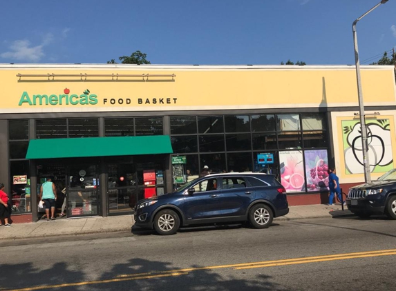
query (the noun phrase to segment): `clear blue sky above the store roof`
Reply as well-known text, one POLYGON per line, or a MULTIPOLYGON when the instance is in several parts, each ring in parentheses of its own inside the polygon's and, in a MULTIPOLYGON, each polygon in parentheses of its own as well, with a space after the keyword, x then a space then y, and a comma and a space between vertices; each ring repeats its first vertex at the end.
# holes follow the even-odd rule
MULTIPOLYGON (((354 64, 352 22, 380 0, 2 0, 0 63, 354 64)), ((396 0, 357 23, 361 63, 396 46, 396 0)), ((377 57, 376 57, 377 56, 377 57)))

